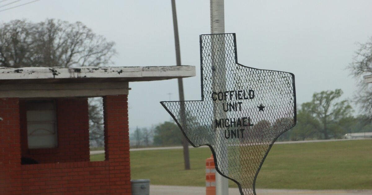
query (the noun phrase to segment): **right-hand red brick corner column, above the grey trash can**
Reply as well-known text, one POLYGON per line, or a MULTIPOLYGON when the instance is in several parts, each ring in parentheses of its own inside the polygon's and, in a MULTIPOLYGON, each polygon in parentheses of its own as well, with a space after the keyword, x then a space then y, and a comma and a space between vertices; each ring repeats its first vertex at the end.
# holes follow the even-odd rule
POLYGON ((111 194, 131 194, 127 95, 103 97, 105 159, 110 163, 111 194))

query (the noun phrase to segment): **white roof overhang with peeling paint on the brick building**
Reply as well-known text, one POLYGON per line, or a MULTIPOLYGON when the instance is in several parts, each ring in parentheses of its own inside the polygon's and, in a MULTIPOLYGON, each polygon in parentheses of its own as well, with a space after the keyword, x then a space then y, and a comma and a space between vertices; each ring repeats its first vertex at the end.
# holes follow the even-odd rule
POLYGON ((0 67, 0 98, 97 97, 128 94, 128 82, 195 76, 195 66, 0 67))

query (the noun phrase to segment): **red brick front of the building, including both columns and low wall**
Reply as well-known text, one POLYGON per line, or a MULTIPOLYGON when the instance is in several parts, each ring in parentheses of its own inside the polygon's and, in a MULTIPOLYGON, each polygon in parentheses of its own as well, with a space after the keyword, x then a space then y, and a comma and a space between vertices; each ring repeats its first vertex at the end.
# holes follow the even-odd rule
POLYGON ((18 105, 17 98, 0 99, 1 195, 131 194, 126 95, 104 97, 106 160, 101 162, 20 165, 18 105))

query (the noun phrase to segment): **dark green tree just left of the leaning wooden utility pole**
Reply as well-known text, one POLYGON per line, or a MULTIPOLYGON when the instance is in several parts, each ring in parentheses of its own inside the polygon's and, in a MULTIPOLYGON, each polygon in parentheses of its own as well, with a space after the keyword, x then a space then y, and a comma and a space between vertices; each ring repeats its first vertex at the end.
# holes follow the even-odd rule
POLYGON ((172 122, 164 122, 155 127, 154 144, 158 146, 180 145, 182 137, 179 127, 172 122))

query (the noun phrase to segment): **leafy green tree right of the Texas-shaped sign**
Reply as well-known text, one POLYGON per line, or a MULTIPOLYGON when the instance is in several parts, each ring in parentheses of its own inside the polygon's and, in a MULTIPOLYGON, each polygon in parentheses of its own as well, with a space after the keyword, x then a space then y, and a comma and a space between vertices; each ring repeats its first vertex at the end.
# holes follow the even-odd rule
POLYGON ((323 139, 340 138, 346 133, 341 124, 352 116, 353 110, 349 101, 338 101, 342 94, 340 89, 315 92, 311 102, 302 104, 302 109, 320 123, 316 130, 323 139))

